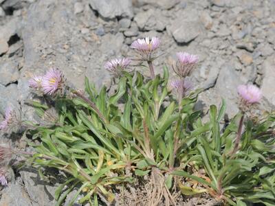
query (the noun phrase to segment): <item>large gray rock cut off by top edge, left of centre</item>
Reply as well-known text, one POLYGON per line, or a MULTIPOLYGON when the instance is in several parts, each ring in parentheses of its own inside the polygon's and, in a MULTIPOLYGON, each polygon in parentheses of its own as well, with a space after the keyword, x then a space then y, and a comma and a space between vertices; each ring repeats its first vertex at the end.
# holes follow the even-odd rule
POLYGON ((133 6, 131 0, 90 0, 91 8, 106 18, 113 19, 117 16, 133 17, 133 6))

